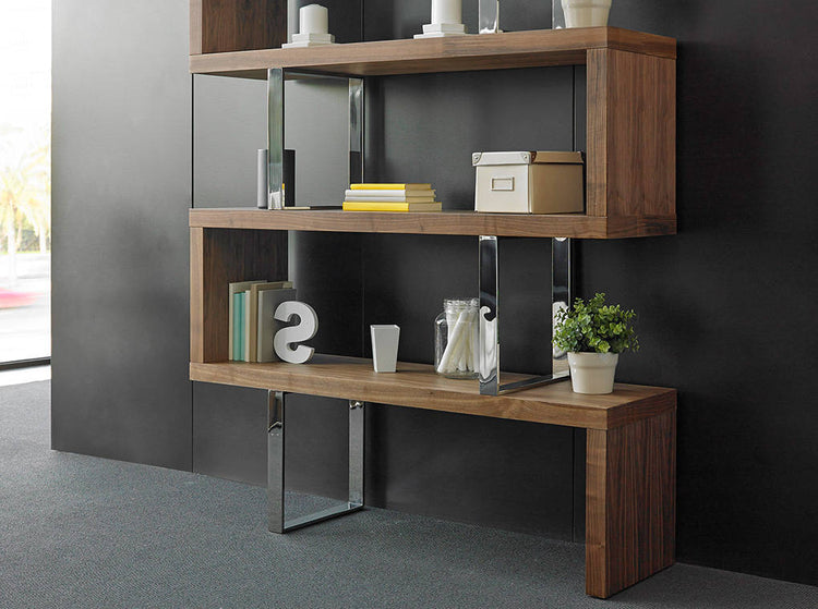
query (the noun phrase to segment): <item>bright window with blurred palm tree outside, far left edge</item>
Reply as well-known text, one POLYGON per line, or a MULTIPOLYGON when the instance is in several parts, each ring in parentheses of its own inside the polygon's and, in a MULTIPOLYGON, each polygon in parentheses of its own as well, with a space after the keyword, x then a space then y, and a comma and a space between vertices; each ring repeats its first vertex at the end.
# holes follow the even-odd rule
POLYGON ((0 364, 51 354, 51 0, 0 0, 0 364))

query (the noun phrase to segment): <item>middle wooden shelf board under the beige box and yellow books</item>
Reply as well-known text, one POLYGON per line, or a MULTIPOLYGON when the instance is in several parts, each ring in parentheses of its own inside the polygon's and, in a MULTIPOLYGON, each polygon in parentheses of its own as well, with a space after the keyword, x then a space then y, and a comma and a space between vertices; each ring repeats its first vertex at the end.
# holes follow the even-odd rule
POLYGON ((333 231, 361 233, 452 234, 497 236, 569 236, 622 239, 676 233, 676 218, 526 215, 443 211, 438 214, 341 211, 340 209, 273 210, 256 208, 191 209, 191 228, 333 231))

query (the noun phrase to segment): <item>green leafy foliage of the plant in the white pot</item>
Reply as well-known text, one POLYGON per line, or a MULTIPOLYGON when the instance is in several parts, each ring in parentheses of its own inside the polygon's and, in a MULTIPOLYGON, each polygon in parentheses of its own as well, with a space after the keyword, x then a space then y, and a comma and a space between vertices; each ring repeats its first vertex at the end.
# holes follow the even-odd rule
POLYGON ((630 321, 633 310, 605 304, 605 294, 597 293, 590 301, 574 301, 574 306, 557 312, 554 346, 573 353, 622 353, 637 351, 639 341, 630 321))

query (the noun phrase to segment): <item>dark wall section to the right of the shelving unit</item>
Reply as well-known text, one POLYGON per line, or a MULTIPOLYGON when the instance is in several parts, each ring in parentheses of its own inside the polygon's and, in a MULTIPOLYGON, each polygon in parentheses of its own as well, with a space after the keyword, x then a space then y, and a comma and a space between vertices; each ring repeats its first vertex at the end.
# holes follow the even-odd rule
POLYGON ((621 377, 679 389, 679 558, 817 584, 818 4, 616 4, 679 40, 679 234, 582 244, 582 290, 639 310, 621 377))

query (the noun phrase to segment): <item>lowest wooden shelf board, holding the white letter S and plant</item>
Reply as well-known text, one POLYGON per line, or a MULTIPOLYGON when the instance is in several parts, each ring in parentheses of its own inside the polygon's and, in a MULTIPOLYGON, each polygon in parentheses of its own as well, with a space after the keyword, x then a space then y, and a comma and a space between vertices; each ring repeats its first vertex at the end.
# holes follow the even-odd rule
MULTIPOLYGON (((310 364, 191 363, 191 380, 587 429, 613 429, 672 411, 675 389, 617 383, 609 395, 574 393, 569 381, 507 395, 480 395, 425 364, 377 374, 371 360, 317 355, 310 364)), ((520 377, 521 378, 521 377, 520 377)), ((513 379, 512 379, 513 380, 513 379)))

